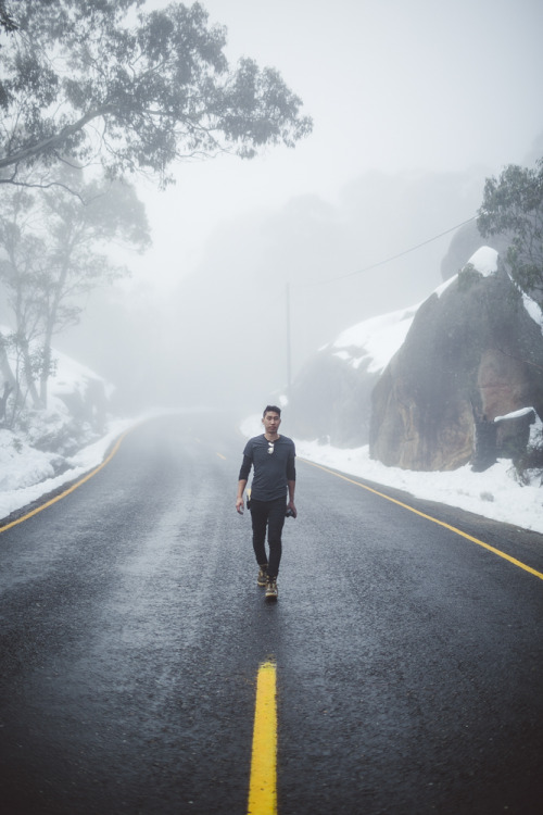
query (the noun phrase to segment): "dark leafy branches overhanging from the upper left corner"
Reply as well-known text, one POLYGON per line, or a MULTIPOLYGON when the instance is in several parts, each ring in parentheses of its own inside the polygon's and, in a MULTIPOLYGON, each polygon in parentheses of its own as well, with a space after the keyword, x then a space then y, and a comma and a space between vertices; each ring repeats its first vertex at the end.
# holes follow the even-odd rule
MULTIPOLYGON (((4 2, 16 30, 2 37, 0 180, 59 161, 100 162, 118 176, 172 180, 178 159, 231 150, 251 158, 312 128, 274 68, 231 68, 226 29, 207 12, 142 0, 4 2)), ((1 9, 0 9, 1 11, 1 9)))

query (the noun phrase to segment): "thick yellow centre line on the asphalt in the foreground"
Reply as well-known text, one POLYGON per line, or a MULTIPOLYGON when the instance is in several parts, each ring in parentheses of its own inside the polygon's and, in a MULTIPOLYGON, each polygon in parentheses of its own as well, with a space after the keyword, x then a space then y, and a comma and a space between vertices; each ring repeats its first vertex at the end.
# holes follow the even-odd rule
POLYGON ((274 662, 258 668, 248 815, 277 814, 276 673, 274 662))

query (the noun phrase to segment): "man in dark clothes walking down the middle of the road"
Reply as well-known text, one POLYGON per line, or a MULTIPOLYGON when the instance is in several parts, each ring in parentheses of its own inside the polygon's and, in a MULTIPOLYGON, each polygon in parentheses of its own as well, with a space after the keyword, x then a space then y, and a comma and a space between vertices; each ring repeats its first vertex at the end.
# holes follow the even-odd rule
POLYGON ((281 561, 281 532, 286 513, 296 517, 294 488, 296 471, 295 448, 292 439, 279 436, 281 410, 274 404, 264 409, 262 416, 264 434, 255 436, 245 444, 239 472, 236 509, 243 513, 243 492, 253 467, 251 485, 251 510, 253 525, 253 549, 258 564, 258 586, 266 587, 266 600, 277 600, 277 575, 281 561), (288 496, 288 503, 287 503, 288 496), (266 528, 269 559, 266 556, 266 528))

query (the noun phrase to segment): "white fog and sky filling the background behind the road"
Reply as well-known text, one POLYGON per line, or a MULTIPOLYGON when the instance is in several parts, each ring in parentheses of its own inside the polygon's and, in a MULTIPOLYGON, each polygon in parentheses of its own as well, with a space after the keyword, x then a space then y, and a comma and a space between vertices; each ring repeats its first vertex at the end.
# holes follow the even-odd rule
POLYGON ((254 412, 339 331, 427 297, 485 176, 543 155, 540 0, 202 4, 232 62, 280 71, 314 133, 179 164, 165 192, 138 181, 153 248, 56 342, 124 410, 254 412))

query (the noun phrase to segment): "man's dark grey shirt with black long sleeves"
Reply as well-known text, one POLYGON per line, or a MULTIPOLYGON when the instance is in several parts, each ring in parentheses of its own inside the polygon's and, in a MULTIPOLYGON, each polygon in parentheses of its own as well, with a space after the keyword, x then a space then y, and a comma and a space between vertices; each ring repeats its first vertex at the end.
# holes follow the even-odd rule
POLYGON ((273 442, 274 452, 264 434, 255 436, 245 444, 239 480, 249 480, 251 467, 254 468, 251 485, 251 498, 256 501, 275 501, 288 492, 288 481, 295 481, 295 447, 292 439, 279 436, 273 442))

